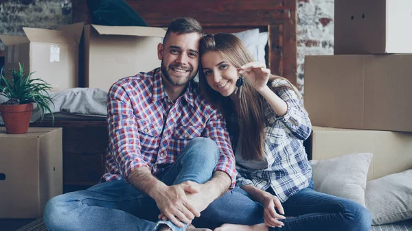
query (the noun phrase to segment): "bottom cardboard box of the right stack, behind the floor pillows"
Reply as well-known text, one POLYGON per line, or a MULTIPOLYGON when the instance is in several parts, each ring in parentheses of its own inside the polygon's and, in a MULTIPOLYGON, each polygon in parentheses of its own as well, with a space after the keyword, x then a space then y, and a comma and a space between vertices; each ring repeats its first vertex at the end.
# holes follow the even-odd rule
POLYGON ((371 153, 367 180, 412 168, 412 133, 312 127, 305 141, 313 160, 355 153, 371 153))

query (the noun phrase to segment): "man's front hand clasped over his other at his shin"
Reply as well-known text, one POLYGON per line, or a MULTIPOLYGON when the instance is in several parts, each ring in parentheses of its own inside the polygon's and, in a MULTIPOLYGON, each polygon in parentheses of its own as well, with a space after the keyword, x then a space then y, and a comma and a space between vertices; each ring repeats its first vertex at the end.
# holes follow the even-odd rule
POLYGON ((198 194, 198 185, 193 183, 183 182, 172 186, 164 186, 153 196, 161 213, 181 228, 185 227, 182 221, 189 224, 195 216, 199 217, 201 215, 186 195, 187 193, 198 194))

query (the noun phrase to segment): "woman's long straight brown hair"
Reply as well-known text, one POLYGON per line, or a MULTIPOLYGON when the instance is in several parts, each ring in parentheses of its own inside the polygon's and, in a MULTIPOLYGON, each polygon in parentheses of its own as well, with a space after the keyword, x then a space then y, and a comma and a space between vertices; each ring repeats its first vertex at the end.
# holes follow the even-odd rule
MULTIPOLYGON (((200 57, 207 52, 218 51, 225 60, 230 62, 236 68, 240 68, 244 64, 254 62, 253 57, 244 46, 243 42, 233 34, 207 34, 203 36, 200 44, 200 57)), ((284 77, 271 75, 272 80, 286 80, 284 77)), ((288 82, 288 80, 286 80, 288 82)), ((216 106, 220 112, 229 121, 229 116, 233 111, 234 104, 229 97, 220 95, 217 91, 213 90, 209 84, 207 84, 205 75, 203 73, 203 66, 200 60, 199 65, 199 82, 201 86, 202 94, 205 95, 211 104, 216 106), (229 104, 229 105, 228 105, 229 104)), ((290 84, 290 82, 288 82, 290 84)), ((276 88, 290 88, 297 93, 297 90, 290 86, 276 86, 272 88, 271 82, 268 86, 272 90, 276 88)), ((299 95, 297 93, 297 95, 299 95)), ((240 97, 240 112, 238 114, 238 126, 242 127, 242 158, 244 160, 265 160, 264 154, 264 139, 266 138, 265 116, 264 110, 267 105, 266 100, 260 93, 258 93, 253 86, 244 82, 242 86, 242 97, 240 97)), ((229 123, 227 123, 229 125, 229 123)), ((228 130, 230 131, 229 127, 228 130)), ((238 130, 239 131, 239 130, 238 130)), ((238 137, 239 134, 231 134, 233 137, 238 137)), ((236 145, 236 144, 233 144, 236 145)))

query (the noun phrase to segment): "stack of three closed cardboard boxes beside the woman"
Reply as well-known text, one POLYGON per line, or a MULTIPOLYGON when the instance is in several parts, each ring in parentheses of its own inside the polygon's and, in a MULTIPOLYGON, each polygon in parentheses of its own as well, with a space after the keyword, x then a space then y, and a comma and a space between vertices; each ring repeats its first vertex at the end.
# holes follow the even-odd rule
POLYGON ((374 154, 368 180, 412 168, 410 0, 336 0, 334 56, 306 56, 313 159, 374 154))

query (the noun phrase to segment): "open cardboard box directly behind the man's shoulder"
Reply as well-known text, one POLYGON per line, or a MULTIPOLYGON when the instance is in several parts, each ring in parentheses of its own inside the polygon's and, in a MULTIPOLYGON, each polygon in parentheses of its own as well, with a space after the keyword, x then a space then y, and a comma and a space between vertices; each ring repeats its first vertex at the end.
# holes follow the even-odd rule
POLYGON ((160 66, 157 27, 84 27, 84 86, 108 90, 117 80, 160 66))

